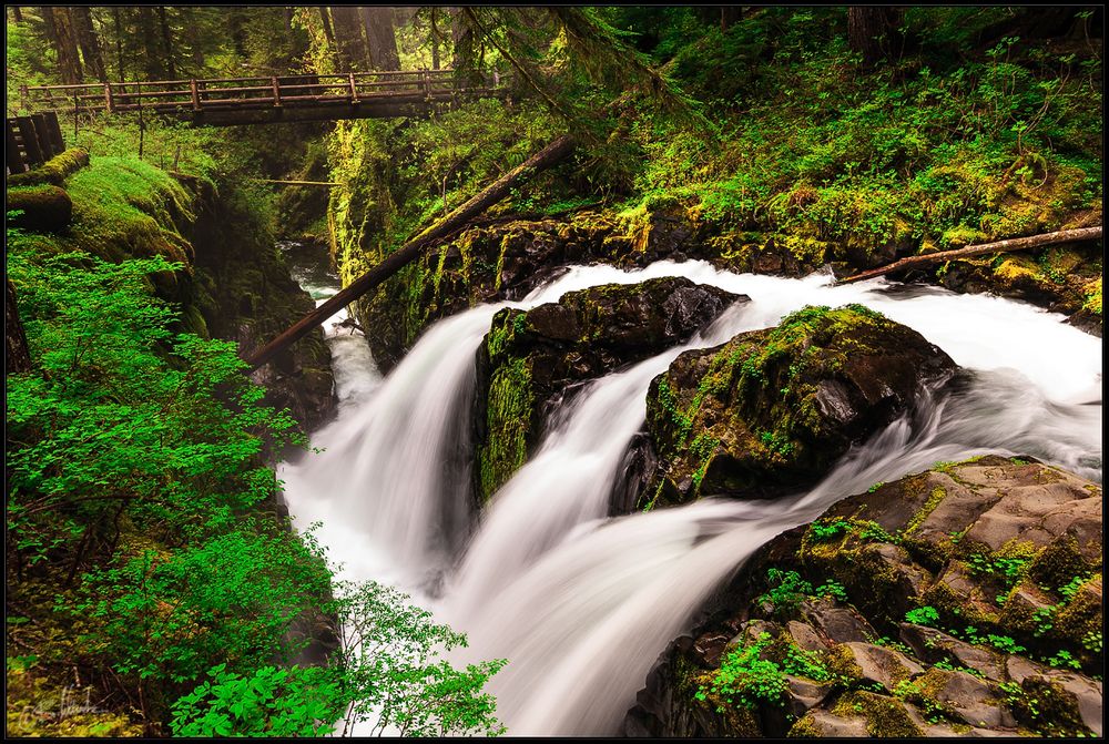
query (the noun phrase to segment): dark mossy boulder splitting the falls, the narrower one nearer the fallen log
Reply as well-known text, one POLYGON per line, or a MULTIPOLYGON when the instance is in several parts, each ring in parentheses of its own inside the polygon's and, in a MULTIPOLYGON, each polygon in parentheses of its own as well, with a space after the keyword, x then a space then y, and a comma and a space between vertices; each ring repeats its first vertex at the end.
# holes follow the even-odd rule
POLYGON ((568 389, 684 342, 745 299, 685 278, 602 285, 494 316, 478 353, 477 493, 519 468, 568 389))

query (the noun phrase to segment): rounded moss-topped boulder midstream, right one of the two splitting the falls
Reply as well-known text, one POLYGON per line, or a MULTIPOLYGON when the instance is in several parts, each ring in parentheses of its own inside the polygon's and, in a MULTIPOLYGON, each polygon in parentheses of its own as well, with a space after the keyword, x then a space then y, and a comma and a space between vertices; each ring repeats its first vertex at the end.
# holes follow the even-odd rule
POLYGON ((806 307, 686 351, 648 393, 660 467, 645 498, 765 498, 810 485, 956 368, 917 332, 861 305, 806 307))

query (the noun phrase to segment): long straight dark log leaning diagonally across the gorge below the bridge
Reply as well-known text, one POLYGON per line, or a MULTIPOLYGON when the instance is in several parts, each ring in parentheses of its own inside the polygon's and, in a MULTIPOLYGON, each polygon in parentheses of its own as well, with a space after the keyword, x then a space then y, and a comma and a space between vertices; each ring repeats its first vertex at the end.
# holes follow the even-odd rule
POLYGON ((482 213, 494 203, 500 201, 512 186, 527 176, 548 169, 561 162, 573 150, 573 141, 563 135, 551 142, 549 145, 537 152, 535 155, 523 161, 519 166, 512 169, 492 184, 487 186, 476 196, 458 206, 446 217, 431 225, 423 233, 405 243, 395 253, 386 256, 381 263, 369 269, 349 286, 325 302, 312 313, 293 324, 286 332, 274 338, 260 350, 246 358, 250 370, 253 371, 262 365, 268 363, 277 354, 288 348, 295 342, 303 338, 313 328, 327 318, 335 315, 340 308, 353 303, 364 294, 381 284, 407 264, 417 258, 426 248, 437 241, 447 237, 457 230, 464 227, 471 218, 482 213))

